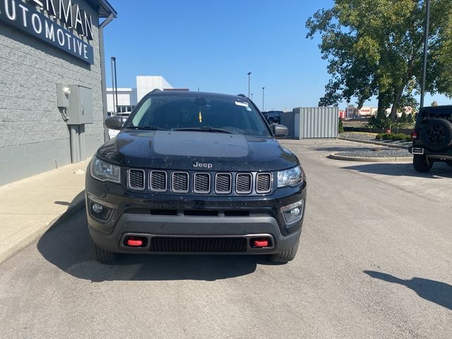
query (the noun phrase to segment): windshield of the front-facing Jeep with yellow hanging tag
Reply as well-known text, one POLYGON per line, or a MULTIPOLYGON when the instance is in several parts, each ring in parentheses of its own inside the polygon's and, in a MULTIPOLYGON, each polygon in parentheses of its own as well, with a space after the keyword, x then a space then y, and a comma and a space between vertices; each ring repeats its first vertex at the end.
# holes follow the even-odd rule
POLYGON ((125 127, 270 136, 263 119, 248 102, 217 97, 148 97, 125 127))

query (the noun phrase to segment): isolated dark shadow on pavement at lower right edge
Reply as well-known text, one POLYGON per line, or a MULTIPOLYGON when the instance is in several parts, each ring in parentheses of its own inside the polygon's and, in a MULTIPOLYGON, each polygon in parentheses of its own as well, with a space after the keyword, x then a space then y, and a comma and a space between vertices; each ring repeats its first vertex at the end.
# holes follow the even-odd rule
POLYGON ((439 304, 442 307, 446 307, 446 309, 452 309, 452 285, 424 278, 403 280, 396 278, 393 275, 376 272, 374 270, 364 270, 363 272, 370 275, 372 278, 406 286, 415 291, 421 298, 439 304))

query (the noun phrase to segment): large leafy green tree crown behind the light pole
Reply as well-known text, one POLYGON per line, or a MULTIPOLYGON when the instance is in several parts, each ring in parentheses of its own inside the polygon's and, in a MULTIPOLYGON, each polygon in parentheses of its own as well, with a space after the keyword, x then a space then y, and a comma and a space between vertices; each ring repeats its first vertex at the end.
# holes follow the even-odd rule
MULTIPOLYGON (((307 20, 308 38, 321 34, 322 58, 331 79, 320 106, 376 96, 378 111, 413 102, 420 90, 425 1, 335 0, 307 20)), ((451 0, 431 0, 426 90, 452 97, 451 0)), ((402 106, 403 107, 403 106, 402 106)), ((413 107, 414 108, 414 107, 413 107)))

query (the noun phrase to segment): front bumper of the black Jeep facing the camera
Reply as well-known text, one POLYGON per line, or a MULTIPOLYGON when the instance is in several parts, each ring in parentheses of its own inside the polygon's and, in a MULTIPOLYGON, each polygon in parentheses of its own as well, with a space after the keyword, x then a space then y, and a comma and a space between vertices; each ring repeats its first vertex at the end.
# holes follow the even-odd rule
MULTIPOLYGON (((90 236, 97 246, 108 251, 155 253, 149 246, 124 246, 126 234, 141 234, 149 241, 168 236, 244 237, 246 249, 242 254, 275 254, 291 249, 299 240, 303 217, 286 225, 280 208, 305 201, 306 182, 278 189, 265 197, 182 196, 133 193, 120 184, 98 182, 88 174, 85 191, 90 236), (112 207, 107 220, 93 216, 90 210, 93 199, 112 207), (271 246, 259 249, 249 246, 248 240, 259 235, 267 235, 271 246)), ((305 206, 306 203, 302 215, 305 206)))

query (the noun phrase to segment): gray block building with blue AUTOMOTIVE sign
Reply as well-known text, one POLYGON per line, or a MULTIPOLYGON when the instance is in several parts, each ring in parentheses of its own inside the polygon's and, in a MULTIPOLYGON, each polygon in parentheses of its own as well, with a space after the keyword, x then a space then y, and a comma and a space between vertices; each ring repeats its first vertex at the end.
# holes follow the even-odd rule
POLYGON ((105 142, 106 0, 0 0, 0 184, 105 142))

